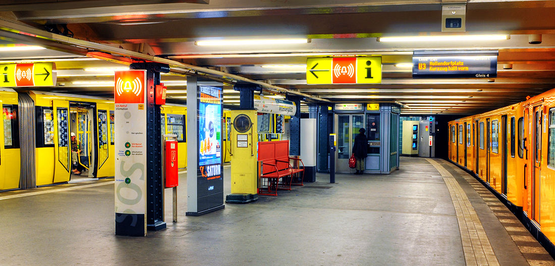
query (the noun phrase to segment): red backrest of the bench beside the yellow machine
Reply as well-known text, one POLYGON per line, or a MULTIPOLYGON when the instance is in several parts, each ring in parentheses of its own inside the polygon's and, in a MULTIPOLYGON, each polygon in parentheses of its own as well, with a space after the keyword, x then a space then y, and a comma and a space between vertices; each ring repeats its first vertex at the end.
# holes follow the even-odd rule
MULTIPOLYGON (((276 163, 276 158, 289 162, 289 140, 258 142, 259 161, 274 164, 276 163)), ((276 167, 278 167, 278 170, 283 170, 289 167, 289 163, 277 162, 276 167)), ((274 167, 263 166, 263 175, 271 172, 275 172, 274 167)))

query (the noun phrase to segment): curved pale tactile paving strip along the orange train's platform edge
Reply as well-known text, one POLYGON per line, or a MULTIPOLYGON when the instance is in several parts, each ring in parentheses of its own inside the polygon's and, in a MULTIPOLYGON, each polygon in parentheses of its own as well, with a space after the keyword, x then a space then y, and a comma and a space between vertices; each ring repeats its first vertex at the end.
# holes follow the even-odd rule
POLYGON ((440 172, 451 194, 455 213, 457 214, 458 228, 461 231, 462 249, 465 253, 466 265, 499 265, 482 223, 466 193, 443 166, 431 159, 426 158, 426 160, 440 172))

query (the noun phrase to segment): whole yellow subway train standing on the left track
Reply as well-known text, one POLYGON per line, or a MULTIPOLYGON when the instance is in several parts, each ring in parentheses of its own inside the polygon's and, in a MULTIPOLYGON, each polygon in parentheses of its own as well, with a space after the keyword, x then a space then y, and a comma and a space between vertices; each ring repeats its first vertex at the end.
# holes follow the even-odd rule
MULTIPOLYGON (((113 99, 0 89, 0 103, 0 192, 114 176, 113 99), (73 134, 78 153, 71 150, 73 134), (79 175, 73 172, 75 168, 81 171, 79 175)), ((178 166, 186 167, 187 108, 166 104, 160 113, 161 133, 177 136, 178 166)), ((226 110, 224 147, 230 122, 226 110)), ((231 160, 228 150, 223 157, 224 162, 231 160)))

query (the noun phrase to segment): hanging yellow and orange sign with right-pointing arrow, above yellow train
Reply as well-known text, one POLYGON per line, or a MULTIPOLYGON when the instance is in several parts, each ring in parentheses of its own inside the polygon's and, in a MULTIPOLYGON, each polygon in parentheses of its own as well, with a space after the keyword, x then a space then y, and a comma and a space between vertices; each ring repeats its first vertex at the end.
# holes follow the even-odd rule
POLYGON ((4 64, 0 74, 0 87, 56 86, 54 63, 4 64))

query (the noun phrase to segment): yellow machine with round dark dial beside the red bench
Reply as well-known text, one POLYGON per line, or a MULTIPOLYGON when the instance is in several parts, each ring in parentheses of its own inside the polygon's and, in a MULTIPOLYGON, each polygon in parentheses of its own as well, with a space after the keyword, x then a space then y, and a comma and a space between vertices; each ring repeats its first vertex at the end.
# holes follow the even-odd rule
POLYGON ((258 199, 258 129, 256 110, 231 110, 231 194, 227 203, 258 199))

